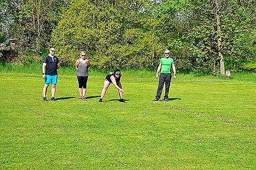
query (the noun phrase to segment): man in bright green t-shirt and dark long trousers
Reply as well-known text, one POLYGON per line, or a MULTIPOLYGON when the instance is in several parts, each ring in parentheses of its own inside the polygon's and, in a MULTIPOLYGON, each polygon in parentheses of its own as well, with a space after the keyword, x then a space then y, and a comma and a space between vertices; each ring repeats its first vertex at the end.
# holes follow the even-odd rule
POLYGON ((176 69, 174 65, 174 59, 172 59, 170 56, 170 51, 168 49, 164 50, 164 57, 160 59, 160 63, 158 66, 158 71, 156 71, 155 78, 158 79, 158 73, 161 70, 160 78, 159 78, 159 84, 158 84, 158 91, 156 92, 155 99, 153 101, 159 101, 164 83, 166 83, 166 92, 164 95, 164 101, 168 101, 168 94, 169 94, 169 88, 171 84, 171 67, 174 71, 174 80, 176 80, 176 69))

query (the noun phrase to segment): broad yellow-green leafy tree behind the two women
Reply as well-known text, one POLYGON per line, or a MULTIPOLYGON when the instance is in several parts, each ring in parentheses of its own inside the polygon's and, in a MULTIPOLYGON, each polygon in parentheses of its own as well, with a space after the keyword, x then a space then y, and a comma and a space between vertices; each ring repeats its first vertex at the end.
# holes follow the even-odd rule
POLYGON ((151 67, 158 43, 146 28, 149 3, 72 1, 52 35, 63 62, 72 64, 85 50, 97 67, 151 67))

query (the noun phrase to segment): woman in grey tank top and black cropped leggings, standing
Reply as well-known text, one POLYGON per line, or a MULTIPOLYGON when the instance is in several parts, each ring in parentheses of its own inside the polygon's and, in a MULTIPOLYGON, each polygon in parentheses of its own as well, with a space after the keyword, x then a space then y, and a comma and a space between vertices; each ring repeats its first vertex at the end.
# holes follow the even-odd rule
POLYGON ((76 75, 79 82, 79 99, 85 99, 85 93, 88 80, 88 68, 90 65, 89 59, 84 51, 80 53, 80 58, 76 61, 76 75))

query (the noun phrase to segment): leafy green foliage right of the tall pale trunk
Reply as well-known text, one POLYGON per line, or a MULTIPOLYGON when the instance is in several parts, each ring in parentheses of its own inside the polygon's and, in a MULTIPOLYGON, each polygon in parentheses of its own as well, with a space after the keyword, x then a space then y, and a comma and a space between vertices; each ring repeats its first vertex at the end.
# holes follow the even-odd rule
POLYGON ((243 0, 222 3, 224 57, 227 68, 236 70, 256 59, 256 2, 243 0))

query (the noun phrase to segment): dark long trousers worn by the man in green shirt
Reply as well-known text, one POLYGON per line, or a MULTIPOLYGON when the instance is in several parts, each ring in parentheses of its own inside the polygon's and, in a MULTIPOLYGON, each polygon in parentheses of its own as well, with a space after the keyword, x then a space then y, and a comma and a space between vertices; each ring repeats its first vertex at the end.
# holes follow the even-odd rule
POLYGON ((164 95, 164 99, 168 99, 168 94, 169 94, 169 88, 171 85, 171 79, 172 79, 172 74, 171 73, 161 73, 159 77, 159 84, 158 84, 158 91, 156 92, 156 99, 160 99, 162 91, 163 91, 163 85, 164 82, 166 83, 166 93, 164 95))

